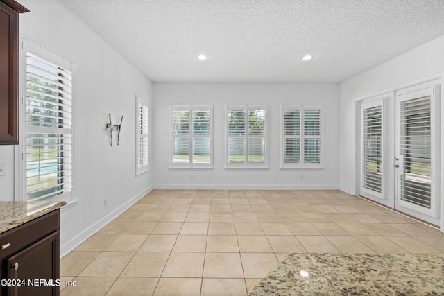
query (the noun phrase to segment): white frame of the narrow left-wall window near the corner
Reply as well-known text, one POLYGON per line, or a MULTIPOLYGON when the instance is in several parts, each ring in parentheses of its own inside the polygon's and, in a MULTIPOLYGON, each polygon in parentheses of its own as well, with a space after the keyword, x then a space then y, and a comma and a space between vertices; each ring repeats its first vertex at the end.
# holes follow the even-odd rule
POLYGON ((149 122, 149 105, 148 102, 145 101, 142 98, 139 98, 138 96, 136 96, 136 107, 135 107, 135 123, 136 123, 136 128, 135 128, 135 135, 136 135, 136 143, 135 143, 135 148, 136 148, 136 158, 135 158, 135 168, 136 168, 136 175, 140 175, 142 173, 145 173, 146 171, 149 171, 150 169, 150 159, 149 159, 149 154, 150 154, 150 137, 149 137, 149 132, 150 132, 150 122, 149 122), (139 106, 142 105, 143 107, 146 107, 146 112, 142 112, 142 116, 144 116, 144 114, 146 114, 146 116, 144 116, 142 118, 141 121, 141 114, 139 113, 139 106), (144 123, 146 122, 146 133, 144 133, 144 123), (141 127, 142 125, 142 127, 141 127), (142 130, 142 132, 141 132, 142 130), (140 141, 139 139, 143 138, 146 139, 146 151, 145 150, 141 150, 140 148, 140 141), (146 159, 146 164, 140 164, 140 159, 141 157, 143 159, 146 159))

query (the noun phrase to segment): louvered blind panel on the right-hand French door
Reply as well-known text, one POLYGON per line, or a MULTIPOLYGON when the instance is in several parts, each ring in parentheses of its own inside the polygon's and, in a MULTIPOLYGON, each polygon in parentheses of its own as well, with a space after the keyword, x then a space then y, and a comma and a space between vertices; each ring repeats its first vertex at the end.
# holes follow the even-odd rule
POLYGON ((431 208, 432 143, 431 98, 400 103, 400 199, 431 208))

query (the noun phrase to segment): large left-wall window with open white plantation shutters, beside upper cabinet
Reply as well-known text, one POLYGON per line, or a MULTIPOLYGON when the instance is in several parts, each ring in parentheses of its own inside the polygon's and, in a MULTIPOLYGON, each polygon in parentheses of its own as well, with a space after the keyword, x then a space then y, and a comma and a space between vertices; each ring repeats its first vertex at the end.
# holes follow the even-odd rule
POLYGON ((31 43, 24 54, 23 196, 67 200, 73 189, 72 64, 31 43))

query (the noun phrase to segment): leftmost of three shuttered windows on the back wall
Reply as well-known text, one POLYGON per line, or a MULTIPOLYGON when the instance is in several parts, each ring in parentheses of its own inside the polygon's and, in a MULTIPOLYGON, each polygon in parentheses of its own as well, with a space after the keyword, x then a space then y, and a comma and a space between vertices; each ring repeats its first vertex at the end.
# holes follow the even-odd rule
POLYGON ((212 167, 212 107, 172 106, 171 167, 212 167))

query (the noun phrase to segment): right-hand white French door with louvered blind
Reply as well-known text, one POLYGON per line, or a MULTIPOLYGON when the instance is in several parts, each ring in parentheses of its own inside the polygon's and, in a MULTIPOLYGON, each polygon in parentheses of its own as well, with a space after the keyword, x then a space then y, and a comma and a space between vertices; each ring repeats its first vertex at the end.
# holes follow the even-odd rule
POLYGON ((433 111, 434 87, 396 98, 395 208, 432 217, 436 215, 433 111))

